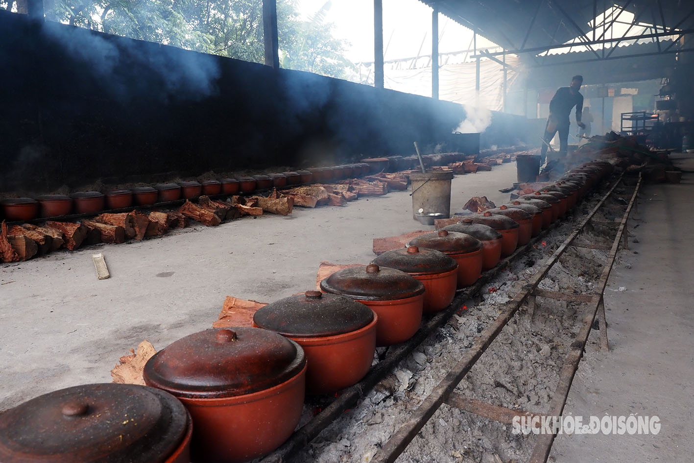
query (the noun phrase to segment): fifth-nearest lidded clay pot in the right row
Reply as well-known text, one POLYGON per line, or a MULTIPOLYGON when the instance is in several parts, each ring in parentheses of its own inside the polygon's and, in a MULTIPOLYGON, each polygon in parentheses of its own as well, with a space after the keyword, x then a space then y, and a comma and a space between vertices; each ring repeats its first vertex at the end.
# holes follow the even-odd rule
POLYGON ((452 303, 458 283, 458 262, 434 249, 393 249, 375 258, 379 267, 408 273, 424 285, 425 313, 439 312, 452 303))

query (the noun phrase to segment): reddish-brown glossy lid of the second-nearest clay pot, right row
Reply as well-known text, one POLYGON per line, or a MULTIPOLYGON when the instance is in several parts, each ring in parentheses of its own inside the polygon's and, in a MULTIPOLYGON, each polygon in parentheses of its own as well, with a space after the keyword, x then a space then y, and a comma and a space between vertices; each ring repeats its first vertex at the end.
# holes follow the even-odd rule
POLYGON ((175 396, 219 398, 269 389, 306 365, 301 346, 276 332, 237 326, 196 332, 155 353, 144 381, 175 396))

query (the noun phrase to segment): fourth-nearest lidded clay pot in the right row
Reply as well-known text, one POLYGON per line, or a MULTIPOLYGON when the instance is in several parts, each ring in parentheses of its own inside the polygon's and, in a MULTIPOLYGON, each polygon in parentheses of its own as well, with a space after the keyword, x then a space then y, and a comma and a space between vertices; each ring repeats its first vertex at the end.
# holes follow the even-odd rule
POLYGON ((404 271, 369 264, 336 271, 321 281, 321 291, 341 294, 378 315, 376 344, 405 342, 419 329, 424 285, 404 271))

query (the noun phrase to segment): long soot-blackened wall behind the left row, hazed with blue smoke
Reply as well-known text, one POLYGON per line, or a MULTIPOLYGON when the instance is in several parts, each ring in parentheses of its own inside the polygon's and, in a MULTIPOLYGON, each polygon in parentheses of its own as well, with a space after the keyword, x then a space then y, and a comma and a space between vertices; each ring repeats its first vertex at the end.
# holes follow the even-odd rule
MULTIPOLYGON (((26 15, 0 11, 0 31, 0 192, 411 154, 466 117, 456 103, 26 15)), ((494 113, 483 147, 518 142, 522 119, 494 113)))

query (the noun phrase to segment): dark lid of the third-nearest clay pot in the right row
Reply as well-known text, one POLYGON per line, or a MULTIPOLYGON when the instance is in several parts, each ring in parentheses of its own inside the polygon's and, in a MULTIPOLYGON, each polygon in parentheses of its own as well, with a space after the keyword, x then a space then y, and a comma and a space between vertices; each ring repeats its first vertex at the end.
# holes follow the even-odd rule
POLYGON ((253 323, 291 337, 335 336, 364 328, 373 321, 370 308, 337 294, 307 291, 260 308, 253 323))

